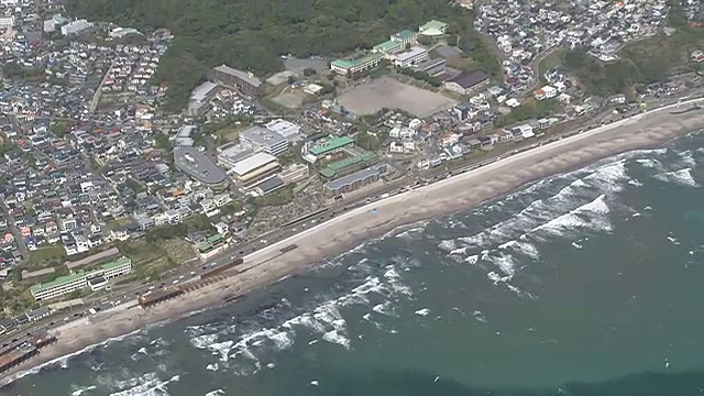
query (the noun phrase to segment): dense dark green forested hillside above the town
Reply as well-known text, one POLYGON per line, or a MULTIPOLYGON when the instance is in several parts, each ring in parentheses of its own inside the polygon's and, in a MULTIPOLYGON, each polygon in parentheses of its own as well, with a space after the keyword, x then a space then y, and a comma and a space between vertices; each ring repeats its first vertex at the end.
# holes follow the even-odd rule
MULTIPOLYGON (((169 82, 172 107, 184 105, 212 66, 267 75, 282 69, 279 55, 336 56, 369 48, 430 19, 449 22, 453 33, 481 44, 471 12, 447 0, 67 0, 67 10, 141 30, 170 29, 175 38, 156 78, 169 82)), ((492 62, 484 46, 476 52, 474 58, 492 62)))

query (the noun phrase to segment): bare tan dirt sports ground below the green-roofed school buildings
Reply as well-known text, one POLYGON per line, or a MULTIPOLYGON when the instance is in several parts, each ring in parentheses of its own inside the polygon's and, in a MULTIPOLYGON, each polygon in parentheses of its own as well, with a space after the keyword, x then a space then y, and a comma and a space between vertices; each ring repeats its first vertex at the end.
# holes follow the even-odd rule
POLYGON ((374 114, 382 109, 399 109, 418 118, 429 117, 457 105, 457 101, 442 95, 388 77, 359 85, 341 95, 338 101, 359 116, 374 114))

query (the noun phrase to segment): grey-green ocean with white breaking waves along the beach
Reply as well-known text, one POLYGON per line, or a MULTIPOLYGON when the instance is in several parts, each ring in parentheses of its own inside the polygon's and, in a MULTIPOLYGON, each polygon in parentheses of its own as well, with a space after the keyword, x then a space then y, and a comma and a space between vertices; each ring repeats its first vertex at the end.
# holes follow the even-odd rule
POLYGON ((701 395, 702 184, 703 133, 610 157, 0 395, 701 395))

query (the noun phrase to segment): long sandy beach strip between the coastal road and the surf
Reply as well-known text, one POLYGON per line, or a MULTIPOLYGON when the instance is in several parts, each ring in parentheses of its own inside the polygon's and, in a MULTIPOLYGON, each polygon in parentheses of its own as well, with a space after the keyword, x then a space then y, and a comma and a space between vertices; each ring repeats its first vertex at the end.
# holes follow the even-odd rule
POLYGON ((324 257, 340 254, 363 240, 378 238, 403 227, 515 191, 526 184, 568 172, 624 152, 649 148, 685 133, 704 129, 704 111, 672 114, 668 110, 704 99, 692 99, 602 125, 550 144, 521 152, 407 193, 398 194, 342 213, 298 234, 271 244, 244 257, 241 274, 217 282, 142 310, 116 309, 100 312, 91 322, 68 322, 54 330, 58 342, 37 358, 9 371, 0 387, 69 355, 120 340, 146 327, 189 317, 222 306, 227 295, 244 295, 308 271, 324 257), (376 209, 371 213, 371 209, 376 209), (324 241, 321 243, 321 241, 324 241), (280 253, 286 245, 298 249, 280 253), (276 257, 276 260, 271 260, 276 257))

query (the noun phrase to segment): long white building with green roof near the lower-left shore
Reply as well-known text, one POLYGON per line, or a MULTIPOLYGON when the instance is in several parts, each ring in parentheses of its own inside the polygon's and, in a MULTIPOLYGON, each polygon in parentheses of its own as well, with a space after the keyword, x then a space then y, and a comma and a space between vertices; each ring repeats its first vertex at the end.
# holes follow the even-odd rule
POLYGON ((79 272, 75 275, 59 276, 45 284, 34 285, 30 287, 30 293, 35 300, 41 301, 88 287, 88 279, 98 277, 110 279, 130 272, 132 272, 132 261, 128 257, 120 257, 100 265, 99 270, 90 273, 79 272))

